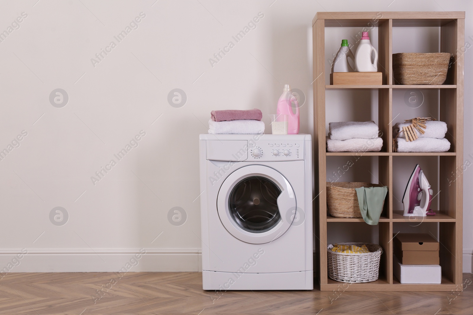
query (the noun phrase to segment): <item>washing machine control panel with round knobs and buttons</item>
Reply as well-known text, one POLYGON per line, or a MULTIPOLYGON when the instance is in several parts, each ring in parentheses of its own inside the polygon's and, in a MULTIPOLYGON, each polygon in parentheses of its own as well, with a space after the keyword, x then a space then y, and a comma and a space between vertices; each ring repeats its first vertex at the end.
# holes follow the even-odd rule
POLYGON ((304 160, 304 141, 249 141, 249 149, 248 160, 265 162, 304 160))

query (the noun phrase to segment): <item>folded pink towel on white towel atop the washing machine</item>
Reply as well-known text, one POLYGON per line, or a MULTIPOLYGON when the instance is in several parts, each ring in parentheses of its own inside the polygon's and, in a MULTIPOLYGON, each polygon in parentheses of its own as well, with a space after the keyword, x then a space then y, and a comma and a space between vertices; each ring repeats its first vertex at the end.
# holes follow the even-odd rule
POLYGON ((211 111, 209 120, 210 134, 254 135, 264 133, 263 113, 253 110, 211 111))

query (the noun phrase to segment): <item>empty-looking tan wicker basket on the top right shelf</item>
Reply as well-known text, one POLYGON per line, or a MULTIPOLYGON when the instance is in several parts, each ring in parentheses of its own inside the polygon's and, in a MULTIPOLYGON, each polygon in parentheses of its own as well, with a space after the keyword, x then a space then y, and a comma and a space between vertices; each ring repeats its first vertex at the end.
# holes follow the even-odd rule
POLYGON ((394 80, 399 85, 441 85, 447 77, 448 52, 393 54, 394 80))

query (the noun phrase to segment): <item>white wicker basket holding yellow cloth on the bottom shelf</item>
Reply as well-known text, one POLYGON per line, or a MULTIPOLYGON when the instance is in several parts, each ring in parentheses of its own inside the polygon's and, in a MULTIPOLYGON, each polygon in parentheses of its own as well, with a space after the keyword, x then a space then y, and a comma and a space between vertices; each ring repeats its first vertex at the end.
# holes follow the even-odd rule
POLYGON ((379 275, 379 261, 383 248, 376 244, 338 243, 343 245, 366 245, 371 253, 344 254, 333 252, 327 247, 327 266, 330 279, 348 283, 376 281, 379 275))

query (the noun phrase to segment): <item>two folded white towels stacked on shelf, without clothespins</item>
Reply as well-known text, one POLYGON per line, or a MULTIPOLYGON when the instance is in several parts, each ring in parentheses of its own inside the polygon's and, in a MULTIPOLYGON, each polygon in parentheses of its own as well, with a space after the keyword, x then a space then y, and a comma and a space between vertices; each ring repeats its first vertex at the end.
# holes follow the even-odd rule
POLYGON ((328 152, 378 152, 383 139, 374 121, 330 122, 327 137, 328 152))

